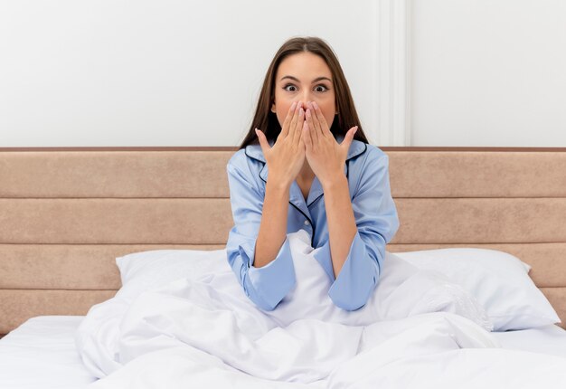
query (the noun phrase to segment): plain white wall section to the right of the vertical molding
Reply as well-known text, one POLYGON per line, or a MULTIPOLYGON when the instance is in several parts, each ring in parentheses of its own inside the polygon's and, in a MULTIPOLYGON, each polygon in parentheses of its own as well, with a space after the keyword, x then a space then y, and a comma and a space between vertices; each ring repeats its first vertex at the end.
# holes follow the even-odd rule
POLYGON ((566 2, 414 0, 413 146, 566 147, 566 2))

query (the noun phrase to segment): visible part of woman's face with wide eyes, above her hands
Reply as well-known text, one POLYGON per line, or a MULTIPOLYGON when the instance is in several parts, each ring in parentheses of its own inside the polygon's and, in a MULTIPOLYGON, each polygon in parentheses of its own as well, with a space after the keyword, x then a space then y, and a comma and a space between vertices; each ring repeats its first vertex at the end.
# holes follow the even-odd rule
POLYGON ((302 101, 305 109, 307 101, 316 101, 328 128, 332 127, 336 111, 332 72, 325 60, 312 52, 292 54, 279 63, 271 111, 277 114, 281 127, 294 101, 302 101))

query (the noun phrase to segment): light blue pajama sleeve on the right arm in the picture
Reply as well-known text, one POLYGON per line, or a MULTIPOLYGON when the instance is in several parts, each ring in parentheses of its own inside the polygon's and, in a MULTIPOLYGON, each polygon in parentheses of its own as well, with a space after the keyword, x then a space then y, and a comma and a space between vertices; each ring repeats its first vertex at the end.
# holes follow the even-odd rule
MULTIPOLYGON (((345 310, 362 308, 372 295, 385 257, 385 244, 399 228, 397 209, 391 197, 388 157, 381 150, 373 149, 366 158, 352 208, 358 231, 342 270, 328 290, 335 305, 345 310)), ((315 257, 334 277, 329 241, 315 257)))

